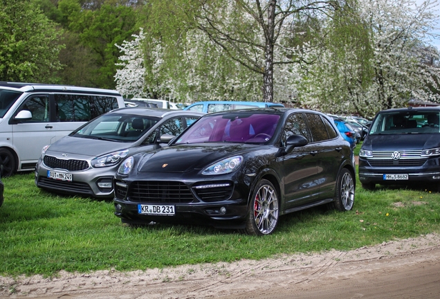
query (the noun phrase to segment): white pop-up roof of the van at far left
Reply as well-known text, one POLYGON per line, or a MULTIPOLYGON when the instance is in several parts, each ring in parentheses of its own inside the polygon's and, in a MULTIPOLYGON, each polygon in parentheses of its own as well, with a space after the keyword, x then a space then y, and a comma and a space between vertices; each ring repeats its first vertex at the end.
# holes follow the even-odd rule
POLYGON ((89 93, 109 93, 120 96, 120 93, 111 89, 97 89, 92 87, 75 87, 73 85, 44 84, 44 83, 24 83, 24 82, 4 82, 0 81, 0 87, 6 89, 29 92, 29 91, 66 91, 66 92, 89 92, 89 93))

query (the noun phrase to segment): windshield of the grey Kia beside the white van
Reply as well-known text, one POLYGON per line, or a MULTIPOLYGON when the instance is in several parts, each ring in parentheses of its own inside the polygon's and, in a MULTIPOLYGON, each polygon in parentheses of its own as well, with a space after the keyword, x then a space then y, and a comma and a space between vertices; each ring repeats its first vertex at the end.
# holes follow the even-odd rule
POLYGON ((132 143, 158 120, 148 116, 104 114, 72 132, 70 136, 132 143))

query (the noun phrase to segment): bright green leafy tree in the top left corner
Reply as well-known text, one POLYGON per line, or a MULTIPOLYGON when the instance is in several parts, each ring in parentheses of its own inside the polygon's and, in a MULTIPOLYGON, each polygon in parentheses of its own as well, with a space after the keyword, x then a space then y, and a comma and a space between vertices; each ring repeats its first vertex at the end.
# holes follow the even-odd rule
POLYGON ((3 0, 0 7, 0 80, 56 82, 54 71, 62 45, 56 28, 28 0, 3 0))

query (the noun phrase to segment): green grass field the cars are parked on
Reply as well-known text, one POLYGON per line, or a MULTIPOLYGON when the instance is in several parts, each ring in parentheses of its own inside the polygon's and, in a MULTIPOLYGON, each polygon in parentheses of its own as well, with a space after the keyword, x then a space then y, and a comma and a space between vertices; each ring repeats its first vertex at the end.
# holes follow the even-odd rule
POLYGON ((131 228, 113 215, 111 201, 39 190, 33 174, 17 174, 3 183, 1 275, 258 260, 331 248, 345 251, 440 231, 440 194, 425 189, 367 191, 358 183, 352 211, 318 207, 294 212, 280 218, 273 235, 251 237, 205 226, 131 228))

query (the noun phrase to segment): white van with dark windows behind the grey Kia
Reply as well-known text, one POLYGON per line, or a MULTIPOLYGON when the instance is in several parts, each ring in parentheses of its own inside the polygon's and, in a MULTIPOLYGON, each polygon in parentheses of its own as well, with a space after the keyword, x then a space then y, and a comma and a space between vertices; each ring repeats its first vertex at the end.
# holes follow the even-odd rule
POLYGON ((1 176, 33 170, 45 145, 120 107, 118 91, 0 82, 1 176))

